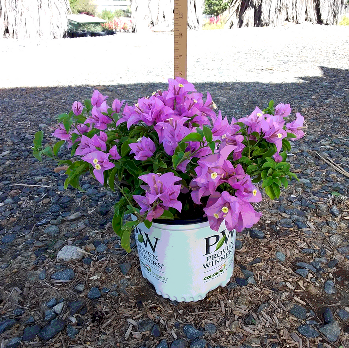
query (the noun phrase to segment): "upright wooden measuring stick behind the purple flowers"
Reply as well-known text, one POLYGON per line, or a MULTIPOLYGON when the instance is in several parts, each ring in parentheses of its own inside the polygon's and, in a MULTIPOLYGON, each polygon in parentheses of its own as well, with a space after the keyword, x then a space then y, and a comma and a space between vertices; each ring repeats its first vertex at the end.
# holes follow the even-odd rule
POLYGON ((174 0, 174 78, 186 79, 188 0, 174 0))

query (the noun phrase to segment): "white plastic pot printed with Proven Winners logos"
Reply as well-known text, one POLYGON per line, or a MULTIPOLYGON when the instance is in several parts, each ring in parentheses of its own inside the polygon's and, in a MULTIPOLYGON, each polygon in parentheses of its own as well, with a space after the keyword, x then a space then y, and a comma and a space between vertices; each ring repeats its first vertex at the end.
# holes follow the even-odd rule
POLYGON ((227 231, 224 222, 219 232, 204 220, 157 220, 150 229, 144 224, 135 228, 143 277, 164 298, 185 302, 202 300, 228 283, 235 238, 236 231, 227 231), (223 236, 225 241, 216 250, 223 236))

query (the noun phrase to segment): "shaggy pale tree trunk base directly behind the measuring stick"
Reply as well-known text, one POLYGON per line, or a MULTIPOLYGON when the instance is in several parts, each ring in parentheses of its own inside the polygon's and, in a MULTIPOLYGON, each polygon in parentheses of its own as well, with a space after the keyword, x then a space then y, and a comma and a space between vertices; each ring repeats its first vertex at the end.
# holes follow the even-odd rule
MULTIPOLYGON (((188 0, 188 27, 199 29, 205 0, 188 0)), ((159 24, 173 26, 174 0, 131 0, 131 19, 134 32, 149 30, 159 24)))

